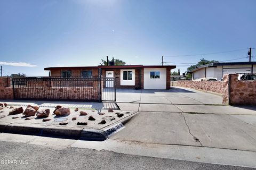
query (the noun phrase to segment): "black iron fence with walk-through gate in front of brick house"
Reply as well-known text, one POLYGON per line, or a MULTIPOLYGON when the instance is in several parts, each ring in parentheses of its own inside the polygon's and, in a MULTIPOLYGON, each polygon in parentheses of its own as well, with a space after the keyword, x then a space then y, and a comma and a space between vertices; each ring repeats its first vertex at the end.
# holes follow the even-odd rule
POLYGON ((12 78, 12 87, 14 99, 116 101, 115 78, 12 78))

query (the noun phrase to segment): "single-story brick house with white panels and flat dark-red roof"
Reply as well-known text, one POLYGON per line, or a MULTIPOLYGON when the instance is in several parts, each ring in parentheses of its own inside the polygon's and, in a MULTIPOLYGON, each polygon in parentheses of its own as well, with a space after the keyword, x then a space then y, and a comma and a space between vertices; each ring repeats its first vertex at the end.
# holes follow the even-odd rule
POLYGON ((109 65, 47 67, 44 70, 50 71, 51 77, 115 77, 117 88, 170 89, 171 69, 175 68, 175 65, 109 65))

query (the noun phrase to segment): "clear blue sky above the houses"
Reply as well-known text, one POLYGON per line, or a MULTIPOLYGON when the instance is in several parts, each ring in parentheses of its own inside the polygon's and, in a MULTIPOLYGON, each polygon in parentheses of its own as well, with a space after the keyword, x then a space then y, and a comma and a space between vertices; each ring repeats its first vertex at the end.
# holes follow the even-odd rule
POLYGON ((256 47, 255 6, 254 0, 1 0, 0 65, 3 75, 47 76, 44 67, 95 66, 106 56, 143 65, 161 65, 164 56, 181 73, 201 58, 248 61, 247 48, 256 47))

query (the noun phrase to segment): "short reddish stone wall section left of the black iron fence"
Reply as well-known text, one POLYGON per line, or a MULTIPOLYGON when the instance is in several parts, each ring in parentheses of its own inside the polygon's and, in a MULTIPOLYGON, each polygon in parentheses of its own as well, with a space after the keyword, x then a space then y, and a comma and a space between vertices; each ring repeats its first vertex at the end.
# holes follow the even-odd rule
POLYGON ((13 99, 13 89, 8 77, 0 77, 0 99, 13 99))

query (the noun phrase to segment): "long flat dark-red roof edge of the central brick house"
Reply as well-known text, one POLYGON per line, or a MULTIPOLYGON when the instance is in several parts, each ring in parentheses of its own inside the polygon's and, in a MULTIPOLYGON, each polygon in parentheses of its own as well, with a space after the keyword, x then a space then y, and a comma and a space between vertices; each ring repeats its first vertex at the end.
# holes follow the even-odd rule
POLYGON ((175 65, 99 65, 99 66, 73 66, 73 67, 46 67, 44 70, 60 69, 135 69, 135 68, 170 68, 175 69, 175 65))

